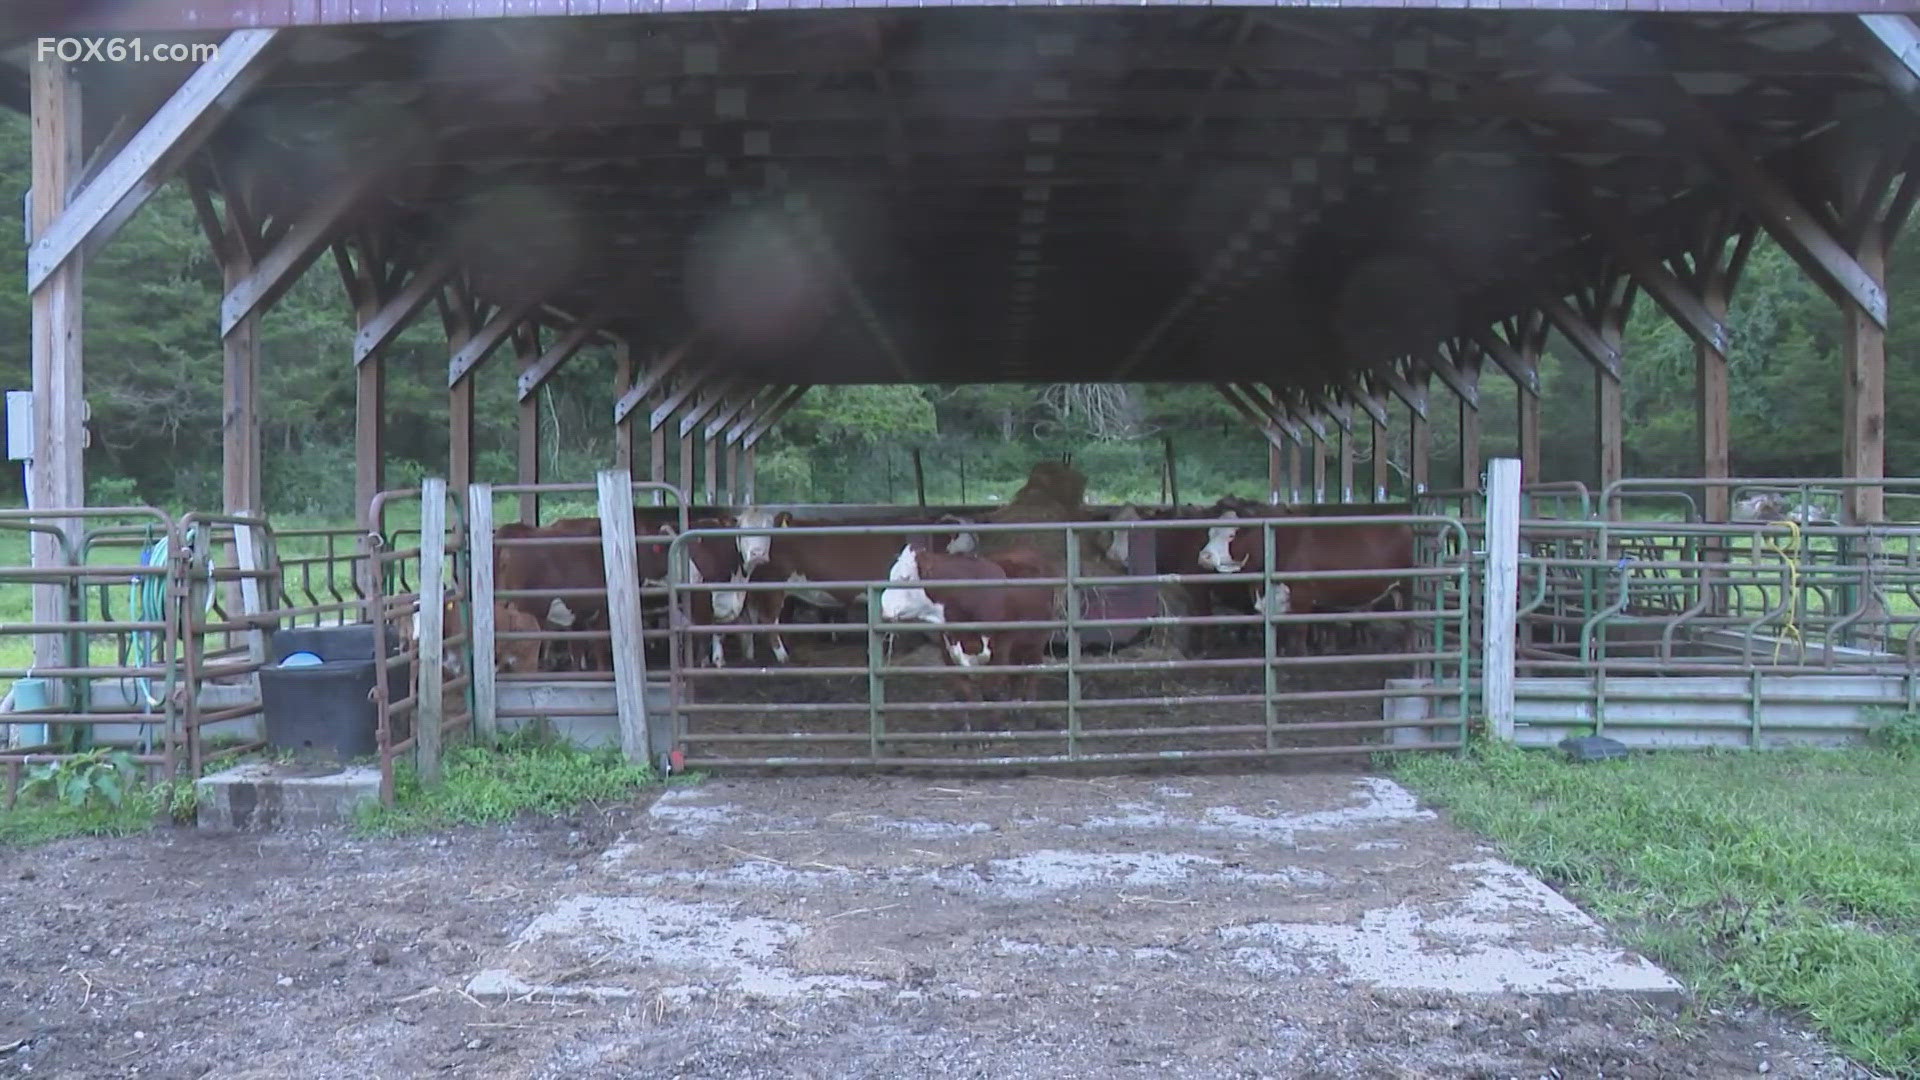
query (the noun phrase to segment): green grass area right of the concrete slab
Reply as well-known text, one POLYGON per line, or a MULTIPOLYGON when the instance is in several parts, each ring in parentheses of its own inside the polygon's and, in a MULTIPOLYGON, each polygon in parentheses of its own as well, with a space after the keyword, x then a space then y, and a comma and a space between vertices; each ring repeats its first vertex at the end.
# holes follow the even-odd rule
POLYGON ((1476 746, 1398 773, 1709 999, 1809 1017, 1920 1076, 1920 753, 1476 746))

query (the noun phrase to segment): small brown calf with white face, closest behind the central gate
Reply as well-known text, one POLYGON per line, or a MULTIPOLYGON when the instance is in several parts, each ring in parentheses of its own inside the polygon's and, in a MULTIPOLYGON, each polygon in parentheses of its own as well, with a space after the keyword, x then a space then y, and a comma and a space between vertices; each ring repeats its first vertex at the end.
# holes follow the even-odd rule
MULTIPOLYGON (((1054 586, 1012 584, 1018 578, 1052 577, 1046 557, 1029 550, 1006 550, 995 555, 950 555, 920 544, 906 544, 887 571, 889 588, 879 594, 879 615, 891 623, 1044 623, 1054 617, 1054 586), (937 582, 1002 580, 1004 586, 941 588, 937 582)), ((995 657, 1006 665, 1039 665, 1046 661, 1048 628, 1012 630, 941 630, 941 657, 948 667, 989 665, 995 657)), ((1010 700, 1031 701, 1041 673, 1027 671, 1023 686, 1006 675, 1010 700)), ((960 680, 968 701, 979 701, 972 678, 960 680)))

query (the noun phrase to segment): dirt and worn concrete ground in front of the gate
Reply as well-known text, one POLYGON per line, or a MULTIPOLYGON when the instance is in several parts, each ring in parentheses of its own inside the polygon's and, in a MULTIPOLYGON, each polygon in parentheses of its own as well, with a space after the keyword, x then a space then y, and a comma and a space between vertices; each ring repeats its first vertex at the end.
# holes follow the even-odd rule
POLYGON ((718 778, 0 857, 0 1076, 1864 1076, 1569 992, 1663 976, 1354 773, 718 778), (1467 990, 1494 953, 1509 990, 1467 990))

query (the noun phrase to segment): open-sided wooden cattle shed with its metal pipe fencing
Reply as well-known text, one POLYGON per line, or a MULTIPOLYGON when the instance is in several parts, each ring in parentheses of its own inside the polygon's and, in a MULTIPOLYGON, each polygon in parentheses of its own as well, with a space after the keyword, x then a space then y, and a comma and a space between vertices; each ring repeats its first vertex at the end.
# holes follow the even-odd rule
POLYGON ((388 796, 401 761, 432 776, 447 740, 528 721, 674 767, 1859 738, 1920 705, 1920 486, 1885 477, 1907 8, 17 4, 33 467, 0 532, 31 565, 0 580, 33 617, 0 634, 33 661, 0 671, 8 792, 88 744, 192 774, 259 748, 257 676, 300 623, 374 628, 388 796), (132 33, 196 61, 38 48, 132 33), (86 507, 83 269, 169 183, 225 284, 223 507, 86 507), (1834 479, 1732 475, 1728 304, 1763 233, 1841 315, 1834 479), (328 259, 355 525, 276 530, 259 325, 328 259), (1693 350, 1695 479, 1626 477, 1640 300, 1693 350), (428 307, 445 469, 401 488, 386 354, 428 307), (1549 340, 1594 380, 1592 486, 1542 475, 1549 340), (584 350, 612 356, 614 459, 559 482, 538 394, 584 350), (476 371, 503 352, 515 482, 488 484, 476 371), (1517 390, 1511 459, 1482 459, 1482 371, 1517 390), (1217 394, 1265 498, 1087 502, 1081 477, 1006 517, 756 492, 816 386, 1129 380, 1217 394), (889 536, 887 561, 831 553, 889 536), (1298 555, 1311 536, 1407 553, 1298 555), (1016 575, 1010 544, 1058 557, 1016 575), (885 619, 925 592, 893 573, 914 546, 995 569, 939 582, 937 621, 885 619), (945 617, 1041 592, 1043 619, 945 617), (1012 671, 993 650, 1020 640, 1041 663, 1012 671))

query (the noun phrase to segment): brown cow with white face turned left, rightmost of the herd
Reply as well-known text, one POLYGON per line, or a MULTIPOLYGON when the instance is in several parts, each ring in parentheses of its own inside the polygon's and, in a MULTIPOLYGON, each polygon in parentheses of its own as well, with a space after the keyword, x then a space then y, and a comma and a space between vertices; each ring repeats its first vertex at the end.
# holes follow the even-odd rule
MULTIPOLYGON (((1223 521, 1238 519, 1227 511, 1223 521)), ((1217 573, 1260 573, 1265 565, 1265 546, 1258 527, 1217 525, 1200 552, 1200 565, 1217 573)), ((1411 571, 1411 525, 1340 525, 1338 519, 1315 525, 1279 527, 1273 530, 1273 573, 1315 571, 1411 571)), ((1332 613, 1373 611, 1382 605, 1400 607, 1405 600, 1407 577, 1382 573, 1356 578, 1292 578, 1275 580, 1273 598, 1252 582, 1254 605, 1273 613, 1332 613)))

